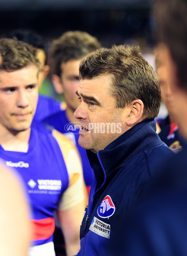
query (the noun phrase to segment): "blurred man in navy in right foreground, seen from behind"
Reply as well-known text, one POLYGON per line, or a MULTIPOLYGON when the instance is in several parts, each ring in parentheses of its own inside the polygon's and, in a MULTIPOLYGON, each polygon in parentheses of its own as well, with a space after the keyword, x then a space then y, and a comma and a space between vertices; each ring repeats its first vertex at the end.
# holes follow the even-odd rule
POLYGON ((187 1, 157 0, 157 36, 183 150, 166 161, 105 255, 187 255, 187 1))

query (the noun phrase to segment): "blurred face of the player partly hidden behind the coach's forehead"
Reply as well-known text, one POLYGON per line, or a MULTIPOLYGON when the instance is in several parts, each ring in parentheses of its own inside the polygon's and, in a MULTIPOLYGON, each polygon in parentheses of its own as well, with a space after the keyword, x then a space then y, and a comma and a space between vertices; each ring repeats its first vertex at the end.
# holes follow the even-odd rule
POLYGON ((62 63, 61 69, 61 86, 63 89, 63 96, 67 103, 67 107, 75 111, 79 106, 79 101, 75 95, 75 91, 79 85, 79 63, 81 60, 70 60, 62 63))

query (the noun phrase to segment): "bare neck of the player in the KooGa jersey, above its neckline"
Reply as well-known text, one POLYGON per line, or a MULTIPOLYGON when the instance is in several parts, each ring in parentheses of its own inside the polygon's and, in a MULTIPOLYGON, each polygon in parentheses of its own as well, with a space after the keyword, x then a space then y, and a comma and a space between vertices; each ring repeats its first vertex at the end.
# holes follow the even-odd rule
POLYGON ((8 130, 0 132, 0 144, 4 150, 27 152, 29 147, 29 138, 31 128, 18 133, 12 133, 8 130))

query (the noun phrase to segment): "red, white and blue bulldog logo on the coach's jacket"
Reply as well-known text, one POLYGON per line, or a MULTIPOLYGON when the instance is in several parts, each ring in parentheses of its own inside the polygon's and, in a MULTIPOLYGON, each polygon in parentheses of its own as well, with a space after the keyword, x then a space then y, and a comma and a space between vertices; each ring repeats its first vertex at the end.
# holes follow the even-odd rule
POLYGON ((107 195, 97 209, 97 213, 101 218, 108 218, 115 212, 115 206, 109 195, 107 195))

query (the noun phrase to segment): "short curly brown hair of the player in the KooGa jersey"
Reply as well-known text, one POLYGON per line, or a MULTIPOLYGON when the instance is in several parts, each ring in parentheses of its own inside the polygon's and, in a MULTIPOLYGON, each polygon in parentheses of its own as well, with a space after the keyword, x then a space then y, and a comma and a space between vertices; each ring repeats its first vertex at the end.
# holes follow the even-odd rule
POLYGON ((37 49, 25 42, 10 38, 0 39, 0 52, 2 63, 0 70, 7 72, 22 69, 34 64, 40 68, 40 62, 37 55, 37 49))

